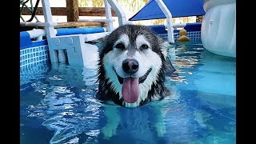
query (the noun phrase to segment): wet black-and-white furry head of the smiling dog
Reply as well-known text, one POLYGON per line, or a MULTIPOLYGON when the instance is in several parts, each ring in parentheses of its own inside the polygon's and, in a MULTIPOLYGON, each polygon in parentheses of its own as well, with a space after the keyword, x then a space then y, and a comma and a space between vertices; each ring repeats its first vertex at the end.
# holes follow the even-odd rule
POLYGON ((161 97, 168 42, 147 26, 125 25, 102 38, 101 43, 100 99, 131 107, 161 97))

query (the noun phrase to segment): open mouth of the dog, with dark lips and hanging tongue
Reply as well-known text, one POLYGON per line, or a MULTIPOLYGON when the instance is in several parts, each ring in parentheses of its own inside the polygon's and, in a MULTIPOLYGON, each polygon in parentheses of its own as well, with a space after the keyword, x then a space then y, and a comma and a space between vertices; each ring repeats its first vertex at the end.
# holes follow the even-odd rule
POLYGON ((125 102, 134 103, 138 101, 138 97, 140 94, 138 85, 140 83, 145 82, 151 70, 152 70, 151 68, 150 70, 147 70, 146 74, 144 74, 140 78, 132 78, 132 77, 122 78, 114 70, 114 72, 118 76, 118 81, 120 82, 120 84, 122 84, 122 98, 124 99, 125 102))

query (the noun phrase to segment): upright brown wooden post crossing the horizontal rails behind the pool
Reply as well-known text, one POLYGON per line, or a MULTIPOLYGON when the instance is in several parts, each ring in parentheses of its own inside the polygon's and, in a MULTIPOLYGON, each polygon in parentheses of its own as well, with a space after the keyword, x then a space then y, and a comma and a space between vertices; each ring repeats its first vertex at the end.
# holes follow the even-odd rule
POLYGON ((78 0, 66 0, 67 22, 77 22, 79 18, 78 0))

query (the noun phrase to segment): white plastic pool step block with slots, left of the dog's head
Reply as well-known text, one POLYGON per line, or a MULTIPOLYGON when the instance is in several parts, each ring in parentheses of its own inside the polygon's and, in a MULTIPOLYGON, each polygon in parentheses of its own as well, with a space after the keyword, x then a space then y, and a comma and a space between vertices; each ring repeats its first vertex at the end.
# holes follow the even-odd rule
POLYGON ((102 38, 108 32, 96 34, 73 34, 48 38, 50 62, 69 63, 70 65, 94 67, 98 62, 98 47, 85 43, 102 38))

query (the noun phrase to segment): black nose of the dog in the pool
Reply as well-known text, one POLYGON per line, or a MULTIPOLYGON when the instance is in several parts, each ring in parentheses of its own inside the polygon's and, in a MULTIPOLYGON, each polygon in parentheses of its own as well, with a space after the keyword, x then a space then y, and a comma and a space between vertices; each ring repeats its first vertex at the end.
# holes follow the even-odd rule
POLYGON ((138 71, 138 61, 126 59, 122 62, 122 70, 127 74, 134 74, 138 71))

